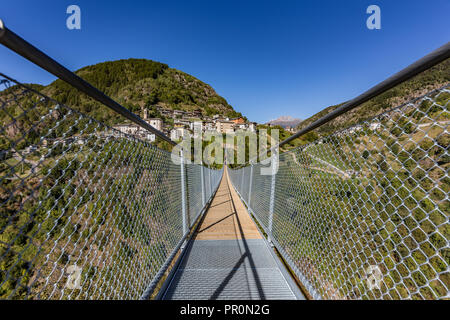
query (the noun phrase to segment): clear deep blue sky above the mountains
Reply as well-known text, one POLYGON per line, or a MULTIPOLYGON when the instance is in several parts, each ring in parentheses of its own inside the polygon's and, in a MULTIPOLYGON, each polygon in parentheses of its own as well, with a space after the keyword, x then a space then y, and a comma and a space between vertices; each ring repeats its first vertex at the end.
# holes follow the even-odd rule
MULTIPOLYGON (((305 119, 450 40, 450 1, 4 1, 0 18, 71 70, 147 58, 194 75, 252 121, 305 119), (81 30, 66 28, 67 6, 81 30), (366 8, 381 8, 381 30, 366 8)), ((0 72, 54 77, 0 46, 0 72)))

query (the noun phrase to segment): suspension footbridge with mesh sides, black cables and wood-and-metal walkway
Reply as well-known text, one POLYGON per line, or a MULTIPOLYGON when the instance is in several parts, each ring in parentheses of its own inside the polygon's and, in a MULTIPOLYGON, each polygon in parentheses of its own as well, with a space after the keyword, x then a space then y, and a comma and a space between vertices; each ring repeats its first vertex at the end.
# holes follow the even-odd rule
MULTIPOLYGON (((0 43, 175 145, 1 22, 0 43)), ((448 299, 448 84, 278 151, 449 57, 272 146, 272 175, 174 162, 0 73, 0 298, 448 299)))

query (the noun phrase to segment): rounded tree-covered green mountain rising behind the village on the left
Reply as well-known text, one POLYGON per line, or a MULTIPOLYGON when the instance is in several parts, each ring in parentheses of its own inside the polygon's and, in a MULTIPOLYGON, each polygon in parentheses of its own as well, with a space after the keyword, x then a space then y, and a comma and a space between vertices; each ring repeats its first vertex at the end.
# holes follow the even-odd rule
MULTIPOLYGON (((156 107, 161 107, 197 110, 203 115, 242 116, 210 85, 164 63, 146 59, 108 61, 81 68, 75 73, 139 115, 147 108, 150 116, 157 116, 156 107)), ((108 124, 123 121, 121 116, 62 80, 42 87, 41 91, 108 124)))

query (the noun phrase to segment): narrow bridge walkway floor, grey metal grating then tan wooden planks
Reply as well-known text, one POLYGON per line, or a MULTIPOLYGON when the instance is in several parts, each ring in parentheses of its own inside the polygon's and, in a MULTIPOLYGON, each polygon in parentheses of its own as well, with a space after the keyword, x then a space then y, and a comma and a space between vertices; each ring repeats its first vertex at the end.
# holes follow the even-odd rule
POLYGON ((302 299, 229 182, 227 170, 163 299, 302 299))

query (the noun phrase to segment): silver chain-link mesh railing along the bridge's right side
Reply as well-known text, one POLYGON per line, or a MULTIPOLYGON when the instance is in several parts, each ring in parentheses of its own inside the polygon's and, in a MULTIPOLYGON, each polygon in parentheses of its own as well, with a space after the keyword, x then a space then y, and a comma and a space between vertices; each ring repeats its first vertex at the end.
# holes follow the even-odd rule
POLYGON ((446 86, 285 152, 274 176, 229 170, 312 297, 450 298, 449 98, 446 86))

